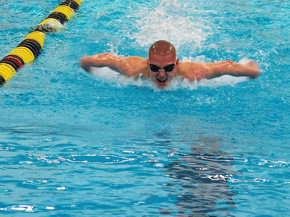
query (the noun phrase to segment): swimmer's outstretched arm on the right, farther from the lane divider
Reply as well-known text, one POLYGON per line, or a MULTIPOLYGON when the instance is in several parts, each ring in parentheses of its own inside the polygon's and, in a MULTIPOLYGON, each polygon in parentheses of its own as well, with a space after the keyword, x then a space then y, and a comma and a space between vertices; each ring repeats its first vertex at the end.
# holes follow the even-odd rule
POLYGON ((260 66, 258 63, 250 60, 246 64, 226 60, 223 62, 205 62, 205 63, 184 63, 184 77, 191 81, 201 80, 203 78, 211 79, 222 75, 231 75, 235 77, 247 76, 251 79, 258 78, 260 66))

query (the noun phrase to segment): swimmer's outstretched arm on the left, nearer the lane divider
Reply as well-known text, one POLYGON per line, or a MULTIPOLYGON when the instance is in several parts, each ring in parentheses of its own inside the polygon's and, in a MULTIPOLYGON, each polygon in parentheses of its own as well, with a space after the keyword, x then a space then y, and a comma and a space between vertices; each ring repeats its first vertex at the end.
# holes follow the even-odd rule
POLYGON ((87 72, 92 71, 92 67, 109 67, 126 76, 137 76, 141 62, 145 59, 138 56, 124 57, 110 53, 84 56, 79 60, 80 66, 87 72))

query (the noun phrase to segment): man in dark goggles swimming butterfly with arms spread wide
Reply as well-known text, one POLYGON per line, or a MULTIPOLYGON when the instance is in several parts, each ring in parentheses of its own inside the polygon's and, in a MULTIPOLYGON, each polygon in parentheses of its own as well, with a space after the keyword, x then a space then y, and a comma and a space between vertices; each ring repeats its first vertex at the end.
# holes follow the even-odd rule
POLYGON ((92 67, 109 67, 125 76, 151 78, 159 88, 167 87, 175 76, 189 81, 211 79, 222 75, 257 78, 260 67, 249 61, 243 65, 226 60, 223 62, 181 62, 176 58, 174 46, 168 41, 157 41, 149 48, 148 59, 139 56, 118 56, 110 53, 84 56, 80 66, 87 72, 92 67))

